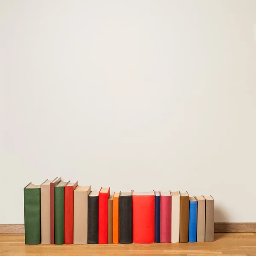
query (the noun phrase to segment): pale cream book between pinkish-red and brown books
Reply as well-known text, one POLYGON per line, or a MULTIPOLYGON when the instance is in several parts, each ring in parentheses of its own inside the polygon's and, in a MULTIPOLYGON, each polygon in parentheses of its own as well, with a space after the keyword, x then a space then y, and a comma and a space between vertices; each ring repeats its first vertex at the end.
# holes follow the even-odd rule
POLYGON ((172 195, 172 243, 180 242, 180 192, 171 192, 172 195))

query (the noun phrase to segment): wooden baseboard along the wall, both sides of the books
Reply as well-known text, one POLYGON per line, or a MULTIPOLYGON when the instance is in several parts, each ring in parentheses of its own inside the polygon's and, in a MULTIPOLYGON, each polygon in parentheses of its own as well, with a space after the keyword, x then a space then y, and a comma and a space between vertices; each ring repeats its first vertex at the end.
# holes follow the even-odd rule
MULTIPOLYGON (((256 232, 256 222, 215 222, 214 232, 256 232)), ((0 224, 0 234, 24 234, 24 224, 0 224)))

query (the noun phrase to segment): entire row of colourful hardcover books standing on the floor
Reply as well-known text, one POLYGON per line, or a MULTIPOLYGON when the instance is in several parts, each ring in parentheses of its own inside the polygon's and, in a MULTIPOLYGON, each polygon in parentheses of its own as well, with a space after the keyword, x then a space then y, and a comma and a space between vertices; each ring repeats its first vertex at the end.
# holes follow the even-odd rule
POLYGON ((118 192, 64 182, 24 188, 25 244, 214 241, 214 199, 187 192, 118 192))

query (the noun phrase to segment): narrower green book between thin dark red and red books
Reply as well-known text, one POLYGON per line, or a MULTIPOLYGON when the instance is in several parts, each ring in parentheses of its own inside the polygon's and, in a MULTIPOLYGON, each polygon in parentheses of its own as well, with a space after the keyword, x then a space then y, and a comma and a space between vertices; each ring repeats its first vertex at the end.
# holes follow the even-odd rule
POLYGON ((54 187, 54 240, 64 244, 64 189, 68 182, 60 181, 54 187))

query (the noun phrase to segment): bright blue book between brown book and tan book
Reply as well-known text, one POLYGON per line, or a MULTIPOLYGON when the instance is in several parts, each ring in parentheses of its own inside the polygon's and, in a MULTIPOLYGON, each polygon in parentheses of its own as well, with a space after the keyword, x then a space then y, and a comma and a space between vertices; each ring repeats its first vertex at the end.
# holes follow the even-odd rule
POLYGON ((189 242, 196 242, 197 230, 197 201, 189 198, 189 242))

